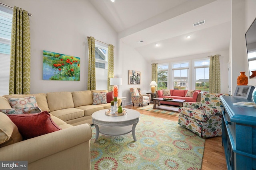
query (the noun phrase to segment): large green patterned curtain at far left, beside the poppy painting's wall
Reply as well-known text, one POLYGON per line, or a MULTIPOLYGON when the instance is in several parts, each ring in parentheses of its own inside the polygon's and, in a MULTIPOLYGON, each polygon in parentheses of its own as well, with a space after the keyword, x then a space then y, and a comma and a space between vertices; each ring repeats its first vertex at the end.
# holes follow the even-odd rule
POLYGON ((28 12, 14 6, 9 94, 30 94, 30 23, 28 12))

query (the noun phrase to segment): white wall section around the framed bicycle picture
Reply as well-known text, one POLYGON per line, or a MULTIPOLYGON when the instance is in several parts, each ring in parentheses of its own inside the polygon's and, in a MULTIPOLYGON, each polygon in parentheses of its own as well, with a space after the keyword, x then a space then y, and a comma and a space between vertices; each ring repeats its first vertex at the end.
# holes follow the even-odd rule
MULTIPOLYGON (((126 105, 131 104, 130 88, 141 88, 141 93, 151 92, 151 73, 148 72, 148 62, 134 48, 124 44, 120 40, 120 72, 122 77, 122 86, 120 86, 121 96, 127 97, 126 105), (140 85, 129 85, 128 70, 141 72, 140 85), (150 75, 150 79, 148 78, 150 75)), ((120 96, 120 95, 119 95, 120 96)))

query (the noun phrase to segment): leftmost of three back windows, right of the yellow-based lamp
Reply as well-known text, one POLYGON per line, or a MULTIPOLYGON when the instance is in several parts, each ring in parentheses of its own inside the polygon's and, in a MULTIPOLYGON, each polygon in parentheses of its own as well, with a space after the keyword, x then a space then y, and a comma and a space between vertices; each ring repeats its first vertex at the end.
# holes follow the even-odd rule
POLYGON ((168 88, 168 64, 157 66, 157 86, 158 89, 168 88))

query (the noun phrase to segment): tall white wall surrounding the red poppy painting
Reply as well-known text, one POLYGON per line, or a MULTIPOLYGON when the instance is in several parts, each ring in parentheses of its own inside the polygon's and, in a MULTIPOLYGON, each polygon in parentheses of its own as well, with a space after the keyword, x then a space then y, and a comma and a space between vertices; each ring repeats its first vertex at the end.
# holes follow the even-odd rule
MULTIPOLYGON (((81 0, 1 0, 17 6, 30 17, 30 93, 87 90, 87 37, 117 46, 117 33, 89 1, 81 0), (42 80, 43 50, 80 57, 80 81, 42 80)), ((118 48, 114 48, 115 61, 118 48)), ((116 70, 115 70, 116 71, 116 70)))

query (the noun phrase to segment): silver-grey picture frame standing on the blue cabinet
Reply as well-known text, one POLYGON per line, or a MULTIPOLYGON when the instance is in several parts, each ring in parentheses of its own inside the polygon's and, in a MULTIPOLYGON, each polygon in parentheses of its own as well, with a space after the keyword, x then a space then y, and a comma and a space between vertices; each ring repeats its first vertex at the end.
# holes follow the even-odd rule
POLYGON ((236 86, 234 98, 252 99, 254 86, 236 86))

